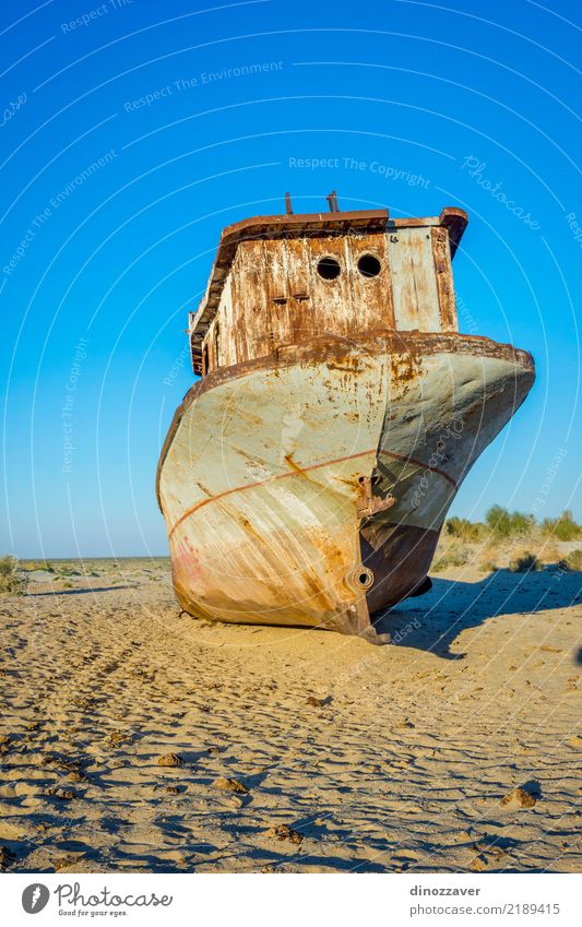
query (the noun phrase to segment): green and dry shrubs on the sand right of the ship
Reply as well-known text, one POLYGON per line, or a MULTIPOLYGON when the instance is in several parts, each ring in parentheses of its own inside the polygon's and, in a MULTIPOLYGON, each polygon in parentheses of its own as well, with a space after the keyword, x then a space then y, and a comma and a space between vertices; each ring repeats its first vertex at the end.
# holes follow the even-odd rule
POLYGON ((582 570, 582 526, 568 510, 542 522, 501 506, 492 506, 484 522, 454 516, 444 523, 432 572, 467 562, 476 562, 484 572, 508 569, 525 573, 548 564, 582 570), (578 540, 580 547, 568 549, 578 540))

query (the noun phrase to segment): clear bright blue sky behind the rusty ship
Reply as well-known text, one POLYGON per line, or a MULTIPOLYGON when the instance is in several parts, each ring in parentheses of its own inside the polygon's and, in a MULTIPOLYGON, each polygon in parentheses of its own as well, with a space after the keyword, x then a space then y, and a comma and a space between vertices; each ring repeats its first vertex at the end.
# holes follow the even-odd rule
POLYGON ((0 552, 167 552, 154 479, 193 380, 187 310, 223 226, 286 190, 301 212, 332 189, 467 210, 461 329, 530 349, 537 382, 452 512, 582 519, 581 12, 5 0, 0 552))

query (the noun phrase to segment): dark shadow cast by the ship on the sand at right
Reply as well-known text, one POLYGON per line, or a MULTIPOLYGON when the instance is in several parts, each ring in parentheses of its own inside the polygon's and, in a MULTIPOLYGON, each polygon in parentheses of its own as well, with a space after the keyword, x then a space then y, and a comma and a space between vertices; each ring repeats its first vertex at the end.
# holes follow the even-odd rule
POLYGON ((375 628, 389 633, 396 646, 431 651, 443 659, 462 659, 464 654, 452 653, 451 645, 466 628, 477 628, 488 618, 533 615, 582 602, 582 572, 563 572, 557 566, 537 573, 497 570, 476 583, 431 579, 430 592, 384 611, 375 628))

